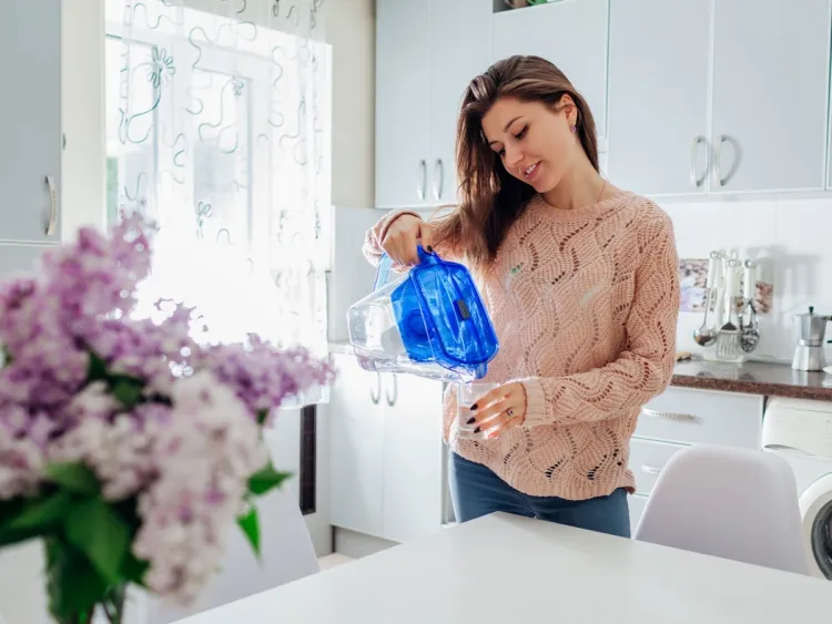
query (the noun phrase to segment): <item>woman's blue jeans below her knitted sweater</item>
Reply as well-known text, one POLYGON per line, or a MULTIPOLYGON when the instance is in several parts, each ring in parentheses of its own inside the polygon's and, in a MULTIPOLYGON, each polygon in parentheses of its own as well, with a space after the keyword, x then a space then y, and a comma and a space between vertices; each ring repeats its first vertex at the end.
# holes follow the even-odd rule
POLYGON ((448 477, 457 522, 505 511, 620 538, 630 536, 630 512, 623 488, 585 501, 532 497, 515 490, 489 468, 455 452, 450 453, 448 477))

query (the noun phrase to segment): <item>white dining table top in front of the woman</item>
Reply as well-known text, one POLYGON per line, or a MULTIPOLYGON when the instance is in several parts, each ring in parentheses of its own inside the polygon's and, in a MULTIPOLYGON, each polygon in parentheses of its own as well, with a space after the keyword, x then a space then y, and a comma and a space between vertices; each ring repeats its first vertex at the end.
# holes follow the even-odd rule
POLYGON ((181 624, 830 620, 822 579, 497 513, 181 624))

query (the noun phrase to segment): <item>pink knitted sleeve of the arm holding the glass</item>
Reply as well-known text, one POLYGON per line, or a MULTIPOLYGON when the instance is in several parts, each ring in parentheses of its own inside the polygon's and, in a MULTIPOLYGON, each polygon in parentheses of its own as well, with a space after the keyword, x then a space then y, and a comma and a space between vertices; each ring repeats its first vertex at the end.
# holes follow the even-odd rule
POLYGON ((627 345, 618 358, 586 372, 520 379, 526 390, 524 427, 605 420, 637 409, 664 391, 676 365, 679 259, 667 215, 648 219, 636 269, 627 345))

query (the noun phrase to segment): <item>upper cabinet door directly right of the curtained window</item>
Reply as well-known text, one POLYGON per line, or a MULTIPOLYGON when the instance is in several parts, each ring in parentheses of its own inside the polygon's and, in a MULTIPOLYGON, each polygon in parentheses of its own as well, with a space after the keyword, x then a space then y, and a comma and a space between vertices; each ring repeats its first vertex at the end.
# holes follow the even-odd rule
POLYGON ((414 208, 428 201, 428 44, 427 2, 377 0, 376 207, 414 208))

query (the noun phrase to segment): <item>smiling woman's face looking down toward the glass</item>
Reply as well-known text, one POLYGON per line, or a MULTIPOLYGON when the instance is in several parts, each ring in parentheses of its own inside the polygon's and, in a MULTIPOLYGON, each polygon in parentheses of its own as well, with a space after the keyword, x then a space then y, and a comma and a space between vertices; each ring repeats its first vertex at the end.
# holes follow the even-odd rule
POLYGON ((571 131, 576 116, 568 95, 557 112, 542 102, 500 98, 483 117, 483 132, 508 173, 546 193, 560 183, 581 149, 571 131))

